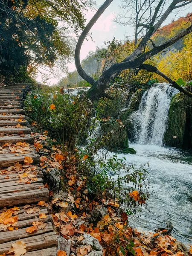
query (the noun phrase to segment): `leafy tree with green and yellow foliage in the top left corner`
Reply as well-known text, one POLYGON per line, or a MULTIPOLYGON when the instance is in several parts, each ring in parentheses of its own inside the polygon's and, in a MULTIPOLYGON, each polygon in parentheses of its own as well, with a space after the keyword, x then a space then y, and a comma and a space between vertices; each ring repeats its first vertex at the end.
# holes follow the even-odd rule
POLYGON ((82 12, 88 3, 92 0, 0 0, 1 76, 23 67, 31 74, 40 65, 53 67, 59 56, 70 58, 68 27, 75 32, 84 28, 82 12))

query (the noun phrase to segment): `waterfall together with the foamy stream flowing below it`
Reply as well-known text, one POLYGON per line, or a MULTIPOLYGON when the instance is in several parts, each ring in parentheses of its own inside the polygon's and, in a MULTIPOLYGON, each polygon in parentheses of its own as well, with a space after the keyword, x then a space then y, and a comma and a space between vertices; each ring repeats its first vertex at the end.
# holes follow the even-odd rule
POLYGON ((143 94, 139 110, 131 116, 137 132, 135 144, 129 146, 137 154, 119 157, 125 157, 134 167, 149 162, 146 169, 152 195, 140 219, 131 219, 132 226, 154 231, 170 221, 173 236, 188 244, 192 243, 192 152, 163 147, 169 105, 175 93, 176 89, 163 83, 154 84, 143 94))

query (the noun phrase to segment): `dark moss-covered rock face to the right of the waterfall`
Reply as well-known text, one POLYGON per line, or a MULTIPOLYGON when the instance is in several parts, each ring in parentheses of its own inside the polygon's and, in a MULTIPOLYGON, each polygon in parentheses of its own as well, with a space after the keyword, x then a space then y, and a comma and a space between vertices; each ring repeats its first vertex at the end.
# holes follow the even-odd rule
POLYGON ((192 98, 183 93, 173 96, 169 108, 168 127, 164 135, 165 145, 177 148, 192 147, 192 106, 189 106, 191 104, 192 98))

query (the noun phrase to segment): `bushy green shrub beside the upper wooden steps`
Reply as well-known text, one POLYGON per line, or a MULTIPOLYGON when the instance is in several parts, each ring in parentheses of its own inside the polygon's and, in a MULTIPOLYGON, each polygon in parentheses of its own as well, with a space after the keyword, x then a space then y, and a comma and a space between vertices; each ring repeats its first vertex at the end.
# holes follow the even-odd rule
POLYGON ((38 129, 47 130, 50 137, 62 145, 63 151, 73 152, 76 145, 82 143, 82 138, 88 136, 92 104, 87 99, 60 91, 44 93, 36 88, 26 97, 25 109, 32 123, 38 129))

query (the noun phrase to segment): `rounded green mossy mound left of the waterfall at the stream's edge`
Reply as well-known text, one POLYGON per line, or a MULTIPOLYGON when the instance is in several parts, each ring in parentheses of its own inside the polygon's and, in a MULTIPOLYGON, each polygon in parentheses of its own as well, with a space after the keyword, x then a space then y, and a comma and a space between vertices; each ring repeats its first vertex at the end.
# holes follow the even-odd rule
POLYGON ((108 119, 101 122, 102 141, 105 147, 110 150, 128 148, 128 137, 125 126, 122 122, 108 119))

